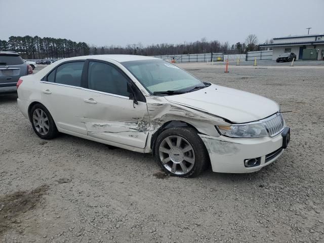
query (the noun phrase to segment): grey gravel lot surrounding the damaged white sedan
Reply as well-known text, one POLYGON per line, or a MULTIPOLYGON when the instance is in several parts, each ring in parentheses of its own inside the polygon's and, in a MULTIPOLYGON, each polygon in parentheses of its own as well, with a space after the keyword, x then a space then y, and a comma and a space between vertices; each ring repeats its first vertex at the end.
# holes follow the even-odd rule
POLYGON ((276 163, 253 174, 166 177, 150 154, 32 131, 0 96, 2 242, 324 242, 324 69, 183 65, 274 99, 292 128, 276 163))

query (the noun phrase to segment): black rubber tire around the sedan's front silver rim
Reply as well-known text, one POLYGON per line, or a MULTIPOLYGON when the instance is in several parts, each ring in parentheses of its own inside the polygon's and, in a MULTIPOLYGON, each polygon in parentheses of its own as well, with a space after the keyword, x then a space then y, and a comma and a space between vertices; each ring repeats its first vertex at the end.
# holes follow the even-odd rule
MULTIPOLYGON (((170 147, 171 149, 171 147, 170 147)), ((185 147, 184 147, 185 149, 185 147)), ((192 151, 188 151, 184 153, 185 155, 188 155, 186 153, 192 153, 192 151)), ((170 154, 169 154, 170 155, 170 154)), ((209 155, 206 149, 206 146, 204 142, 201 140, 201 138, 198 136, 197 132, 190 127, 181 127, 181 128, 170 128, 165 131, 163 131, 159 136, 157 137, 154 145, 154 156, 157 161, 157 163, 161 166, 161 168, 171 176, 177 176, 177 177, 196 177, 198 176, 201 172, 203 172, 209 165, 209 155), (175 174, 168 170, 165 165, 168 163, 176 164, 172 160, 169 161, 164 165, 164 163, 161 161, 160 154, 164 154, 163 152, 159 151, 160 145, 162 142, 165 141, 166 138, 168 137, 181 137, 182 138, 182 143, 188 142, 189 145, 191 145, 192 150, 193 150, 193 158, 194 158, 194 164, 192 168, 187 172, 183 174, 175 174), (184 140, 183 140, 184 139, 184 140)), ((166 154, 166 156, 168 156, 166 154)), ((184 157, 183 156, 183 157, 184 157)), ((170 156, 171 157, 171 156, 170 156)), ((183 160, 184 163, 187 165, 190 165, 187 161, 183 160)), ((180 170, 182 167, 180 167, 180 164, 177 165, 180 170)), ((190 166, 189 166, 190 167, 190 166)))

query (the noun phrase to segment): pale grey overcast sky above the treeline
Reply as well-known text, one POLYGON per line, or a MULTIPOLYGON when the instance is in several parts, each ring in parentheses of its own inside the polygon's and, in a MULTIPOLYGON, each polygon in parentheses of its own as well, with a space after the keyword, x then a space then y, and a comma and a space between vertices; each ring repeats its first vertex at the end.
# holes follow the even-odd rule
POLYGON ((90 45, 230 44, 324 33, 324 0, 0 0, 0 39, 67 38, 90 45))

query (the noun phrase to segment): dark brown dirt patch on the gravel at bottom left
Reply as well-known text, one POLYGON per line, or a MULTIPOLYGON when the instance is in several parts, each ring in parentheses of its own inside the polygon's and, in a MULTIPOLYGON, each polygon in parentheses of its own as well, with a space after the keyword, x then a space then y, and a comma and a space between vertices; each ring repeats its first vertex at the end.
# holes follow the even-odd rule
POLYGON ((20 225, 17 218, 30 211, 41 203, 41 197, 49 189, 48 185, 42 185, 30 191, 17 191, 12 194, 0 195, 0 235, 7 230, 20 225))

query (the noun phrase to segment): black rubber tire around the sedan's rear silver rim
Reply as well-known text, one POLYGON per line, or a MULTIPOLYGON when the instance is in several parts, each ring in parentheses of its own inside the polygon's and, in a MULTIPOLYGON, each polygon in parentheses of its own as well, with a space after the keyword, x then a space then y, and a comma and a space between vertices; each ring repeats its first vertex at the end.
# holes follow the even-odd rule
POLYGON ((30 117, 32 129, 34 130, 34 132, 37 134, 38 137, 40 137, 42 139, 52 139, 58 135, 58 131, 57 131, 55 122, 53 120, 53 117, 44 105, 39 104, 39 103, 33 105, 33 107, 30 109, 29 117, 30 117), (44 121, 44 123, 46 123, 46 125, 48 127, 48 131, 46 133, 42 134, 42 130, 35 127, 34 121, 36 119, 34 119, 34 117, 33 117, 34 112, 36 113, 35 110, 37 110, 37 111, 42 110, 46 114, 46 117, 48 118, 47 119, 48 122, 44 121), (41 131, 38 131, 38 130, 41 130, 41 131))

